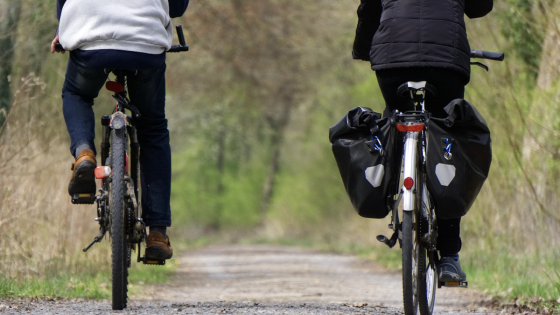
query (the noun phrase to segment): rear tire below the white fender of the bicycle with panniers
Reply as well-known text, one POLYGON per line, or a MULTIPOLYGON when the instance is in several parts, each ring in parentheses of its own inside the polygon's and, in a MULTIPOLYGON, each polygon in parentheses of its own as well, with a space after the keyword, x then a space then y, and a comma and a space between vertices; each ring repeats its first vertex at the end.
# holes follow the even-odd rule
POLYGON ((404 314, 418 310, 418 242, 415 232, 415 211, 403 211, 402 220, 402 283, 404 314))

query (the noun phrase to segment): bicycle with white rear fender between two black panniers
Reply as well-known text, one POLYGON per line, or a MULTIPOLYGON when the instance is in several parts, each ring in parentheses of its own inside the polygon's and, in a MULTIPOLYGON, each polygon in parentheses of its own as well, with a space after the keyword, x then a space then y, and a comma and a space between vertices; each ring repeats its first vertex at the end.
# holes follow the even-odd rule
MULTIPOLYGON (((472 50, 471 58, 502 61, 503 53, 472 50)), ((479 62, 472 64, 488 67, 479 62)), ((407 315, 432 314, 435 305, 436 287, 463 287, 466 281, 440 282, 436 262, 437 221, 435 204, 426 186, 426 158, 428 143, 428 122, 430 114, 425 110, 425 96, 437 94, 437 87, 428 82, 406 82, 399 86, 397 93, 410 96, 415 111, 395 112, 393 126, 397 136, 394 143, 396 159, 393 178, 395 186, 390 192, 391 238, 378 235, 377 239, 395 246, 397 241, 402 249, 402 281, 404 313, 407 315)), ((382 149, 377 147, 378 150, 382 149)), ((446 146, 444 155, 451 158, 451 144, 446 146)))

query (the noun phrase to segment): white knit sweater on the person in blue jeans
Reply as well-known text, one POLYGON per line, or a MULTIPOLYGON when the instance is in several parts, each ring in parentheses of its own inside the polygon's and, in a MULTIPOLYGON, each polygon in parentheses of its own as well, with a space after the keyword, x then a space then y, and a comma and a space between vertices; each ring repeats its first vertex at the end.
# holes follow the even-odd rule
POLYGON ((171 47, 168 0, 67 0, 59 24, 66 50, 160 54, 171 47))

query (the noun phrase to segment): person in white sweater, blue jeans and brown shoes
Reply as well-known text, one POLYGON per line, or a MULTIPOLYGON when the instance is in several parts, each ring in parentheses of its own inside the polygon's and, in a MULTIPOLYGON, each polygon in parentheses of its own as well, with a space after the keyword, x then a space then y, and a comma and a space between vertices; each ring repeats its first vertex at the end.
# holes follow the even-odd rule
POLYGON ((129 97, 141 113, 136 119, 140 143, 143 219, 150 227, 146 257, 169 259, 171 226, 171 149, 165 118, 165 51, 171 47, 171 18, 189 0, 57 0, 60 42, 70 51, 62 88, 62 109, 76 159, 70 195, 96 192, 93 101, 108 70, 134 70, 129 97))

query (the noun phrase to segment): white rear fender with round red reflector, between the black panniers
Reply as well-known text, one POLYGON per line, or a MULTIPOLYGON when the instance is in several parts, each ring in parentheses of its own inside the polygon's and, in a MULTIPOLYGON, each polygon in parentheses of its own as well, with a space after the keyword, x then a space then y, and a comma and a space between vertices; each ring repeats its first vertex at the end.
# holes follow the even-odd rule
POLYGON ((416 206, 416 161, 418 160, 418 135, 420 132, 407 132, 404 140, 404 169, 403 179, 412 178, 413 185, 410 189, 402 187, 403 210, 413 211, 416 206))

